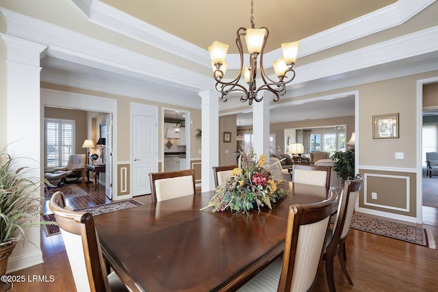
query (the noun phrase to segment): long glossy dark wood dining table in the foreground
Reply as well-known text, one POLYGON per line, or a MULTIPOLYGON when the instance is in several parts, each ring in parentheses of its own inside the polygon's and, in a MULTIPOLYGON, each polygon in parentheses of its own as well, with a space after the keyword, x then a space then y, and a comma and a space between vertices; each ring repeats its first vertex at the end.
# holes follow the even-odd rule
POLYGON ((283 182, 287 198, 249 214, 213 213, 214 191, 94 217, 103 255, 133 291, 235 291, 283 253, 288 207, 326 187, 283 182))

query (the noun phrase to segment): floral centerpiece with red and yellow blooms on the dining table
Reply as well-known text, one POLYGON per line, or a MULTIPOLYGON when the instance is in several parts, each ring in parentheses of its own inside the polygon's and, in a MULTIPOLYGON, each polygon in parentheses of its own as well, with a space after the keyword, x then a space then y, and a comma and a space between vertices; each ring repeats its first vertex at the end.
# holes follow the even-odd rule
MULTIPOLYGON (((274 181, 266 165, 265 155, 243 151, 240 154, 238 167, 232 170, 231 176, 215 189, 206 209, 212 207, 213 212, 227 209, 235 213, 248 213, 250 209, 268 206, 287 196, 287 190, 278 187, 282 181, 274 181)), ((279 161, 277 162, 279 163, 279 161)))

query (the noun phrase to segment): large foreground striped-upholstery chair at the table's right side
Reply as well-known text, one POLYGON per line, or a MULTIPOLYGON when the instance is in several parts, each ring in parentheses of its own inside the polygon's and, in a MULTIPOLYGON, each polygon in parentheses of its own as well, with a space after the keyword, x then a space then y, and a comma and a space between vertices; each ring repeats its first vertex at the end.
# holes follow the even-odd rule
POLYGON ((309 291, 318 274, 326 235, 337 190, 329 198, 315 204, 294 204, 289 207, 285 250, 238 291, 309 291))

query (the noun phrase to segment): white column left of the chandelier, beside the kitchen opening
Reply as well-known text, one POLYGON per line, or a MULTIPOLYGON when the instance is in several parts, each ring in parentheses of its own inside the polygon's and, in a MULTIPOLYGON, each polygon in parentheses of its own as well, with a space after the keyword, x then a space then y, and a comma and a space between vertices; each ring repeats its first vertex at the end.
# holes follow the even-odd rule
POLYGON ((213 166, 219 165, 219 98, 216 92, 205 91, 202 98, 201 191, 214 189, 213 166))

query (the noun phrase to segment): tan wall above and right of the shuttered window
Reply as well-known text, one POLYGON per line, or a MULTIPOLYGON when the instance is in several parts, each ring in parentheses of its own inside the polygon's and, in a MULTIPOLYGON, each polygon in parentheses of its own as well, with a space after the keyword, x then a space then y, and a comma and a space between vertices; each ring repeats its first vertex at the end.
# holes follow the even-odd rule
MULTIPOLYGON (((75 120, 75 152, 87 154, 87 148, 82 148, 83 141, 90 139, 87 133, 87 111, 78 109, 58 109, 55 107, 44 107, 44 118, 62 118, 75 120)), ((94 141, 93 141, 94 142, 94 141)))

